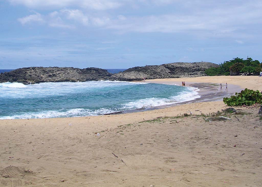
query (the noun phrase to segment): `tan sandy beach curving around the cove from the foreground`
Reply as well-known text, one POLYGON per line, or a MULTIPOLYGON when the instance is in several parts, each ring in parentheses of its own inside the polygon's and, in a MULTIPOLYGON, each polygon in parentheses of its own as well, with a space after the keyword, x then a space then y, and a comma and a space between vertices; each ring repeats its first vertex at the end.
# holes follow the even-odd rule
POLYGON ((241 114, 228 114, 226 121, 206 121, 204 115, 228 108, 225 95, 262 91, 262 78, 145 82, 181 81, 212 84, 217 95, 203 88, 206 102, 94 117, 0 120, 0 186, 261 186, 260 106, 234 107, 241 114))

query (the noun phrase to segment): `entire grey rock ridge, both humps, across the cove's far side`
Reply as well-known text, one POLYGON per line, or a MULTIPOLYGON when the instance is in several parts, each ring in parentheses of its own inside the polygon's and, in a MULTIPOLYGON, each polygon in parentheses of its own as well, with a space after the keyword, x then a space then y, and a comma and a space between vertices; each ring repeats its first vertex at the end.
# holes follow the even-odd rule
POLYGON ((73 67, 29 67, 19 68, 0 74, 0 83, 18 82, 35 84, 43 82, 84 82, 89 80, 132 81, 160 78, 183 78, 205 76, 204 71, 210 67, 218 67, 210 62, 176 62, 162 65, 133 67, 117 74, 111 74, 100 68, 73 67))

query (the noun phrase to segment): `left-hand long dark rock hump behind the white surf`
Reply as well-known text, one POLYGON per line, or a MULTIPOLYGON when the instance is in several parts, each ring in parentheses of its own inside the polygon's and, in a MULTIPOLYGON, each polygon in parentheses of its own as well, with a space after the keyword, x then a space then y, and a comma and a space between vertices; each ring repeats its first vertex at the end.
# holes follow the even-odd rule
POLYGON ((107 80, 111 75, 107 70, 100 68, 29 67, 1 73, 0 83, 84 82, 88 80, 107 80))

